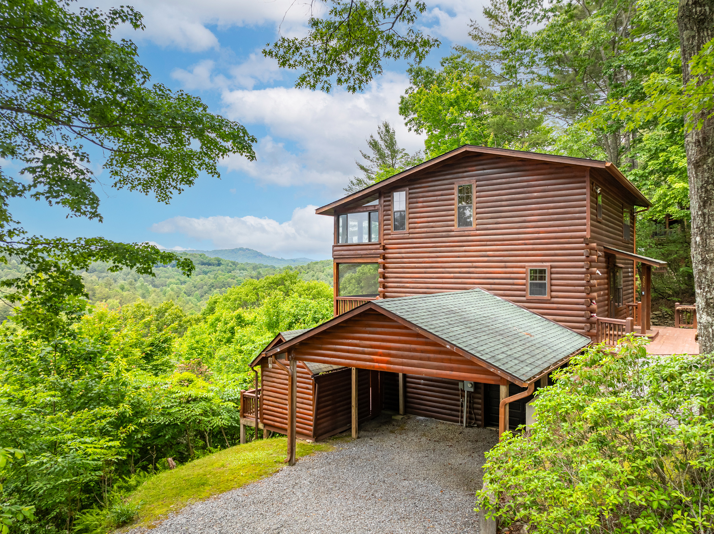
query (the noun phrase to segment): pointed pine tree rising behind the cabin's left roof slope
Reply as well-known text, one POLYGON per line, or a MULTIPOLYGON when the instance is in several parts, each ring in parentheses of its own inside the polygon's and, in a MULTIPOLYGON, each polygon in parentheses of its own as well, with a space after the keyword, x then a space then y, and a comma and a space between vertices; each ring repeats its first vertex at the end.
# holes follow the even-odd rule
POLYGON ((421 152, 409 155, 405 149, 399 147, 394 128, 387 120, 377 126, 377 138, 370 135, 366 141, 372 150, 371 155, 360 150, 365 163, 355 161, 364 176, 351 178, 345 192, 353 193, 367 188, 423 161, 421 152))

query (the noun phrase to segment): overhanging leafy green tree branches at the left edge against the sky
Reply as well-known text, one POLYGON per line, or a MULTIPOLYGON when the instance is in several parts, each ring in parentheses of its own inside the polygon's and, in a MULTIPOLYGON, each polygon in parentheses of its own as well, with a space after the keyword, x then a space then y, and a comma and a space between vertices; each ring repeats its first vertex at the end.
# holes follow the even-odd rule
POLYGON ((111 188, 154 194, 169 202, 199 172, 219 176, 221 158, 254 158, 243 126, 208 113, 198 98, 159 83, 136 60, 131 41, 116 42, 118 24, 143 29, 130 7, 75 9, 69 0, 12 0, 0 7, 0 262, 19 259, 26 274, 4 279, 16 320, 51 337, 84 312, 78 269, 96 260, 152 274, 154 265, 193 264, 144 244, 103 237, 67 240, 28 235, 9 210, 13 198, 59 205, 68 217, 102 220, 90 151, 108 154, 111 188), (22 178, 19 178, 19 177, 22 178))

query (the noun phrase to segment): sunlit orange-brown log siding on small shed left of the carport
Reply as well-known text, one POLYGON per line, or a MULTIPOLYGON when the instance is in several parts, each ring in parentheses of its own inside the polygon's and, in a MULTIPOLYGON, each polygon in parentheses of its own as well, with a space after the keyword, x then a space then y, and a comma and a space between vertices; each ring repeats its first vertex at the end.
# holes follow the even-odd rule
MULTIPOLYGON (((283 362, 286 363, 286 362, 283 362)), ((313 436, 313 379, 305 364, 298 362, 297 433, 308 439, 313 436)), ((288 375, 278 366, 268 369, 261 361, 261 421, 280 433, 288 432, 288 375)))

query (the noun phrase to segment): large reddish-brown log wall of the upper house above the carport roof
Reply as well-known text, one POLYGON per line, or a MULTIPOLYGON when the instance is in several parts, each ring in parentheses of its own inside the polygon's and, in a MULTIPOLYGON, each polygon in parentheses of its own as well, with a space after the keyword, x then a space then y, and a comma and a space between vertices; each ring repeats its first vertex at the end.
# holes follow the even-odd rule
POLYGON ((384 297, 480 286, 583 332, 583 168, 470 156, 406 186, 406 234, 391 233, 391 191, 383 192, 384 297), (455 231, 453 184, 469 179, 476 180, 476 230, 455 231), (530 263, 551 265, 550 299, 526 299, 530 263))

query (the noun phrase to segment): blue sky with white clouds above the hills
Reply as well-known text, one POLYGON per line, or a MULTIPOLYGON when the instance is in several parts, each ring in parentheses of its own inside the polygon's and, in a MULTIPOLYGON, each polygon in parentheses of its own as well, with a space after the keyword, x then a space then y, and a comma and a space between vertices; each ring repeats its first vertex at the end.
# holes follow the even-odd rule
MULTIPOLYGON (((124 3, 124 2, 122 2, 124 3)), ((115 2, 81 1, 106 8, 115 2)), ((296 73, 278 69, 261 48, 283 35, 301 35, 306 4, 259 0, 140 0, 144 32, 120 29, 117 36, 139 45, 141 62, 154 81, 200 96, 214 113, 246 125, 258 138, 258 158, 231 157, 221 180, 202 176, 172 200, 156 202, 136 192, 96 188, 104 222, 68 220, 65 212, 19 200, 14 215, 36 235, 101 235, 125 242, 154 242, 166 248, 249 247, 278 257, 330 257, 332 222, 314 215, 316 206, 343 195, 358 150, 389 120, 410 152, 423 140, 408 132, 398 115, 408 86, 406 63, 391 63, 359 94, 330 94, 293 88, 296 73)), ((471 43, 468 21, 482 20, 482 1, 429 2, 423 27, 442 41, 427 63, 438 65, 454 43, 471 43)), ((94 155, 100 182, 101 154, 94 155)), ((109 183, 109 180, 106 180, 109 183)))

